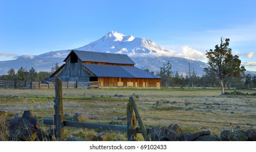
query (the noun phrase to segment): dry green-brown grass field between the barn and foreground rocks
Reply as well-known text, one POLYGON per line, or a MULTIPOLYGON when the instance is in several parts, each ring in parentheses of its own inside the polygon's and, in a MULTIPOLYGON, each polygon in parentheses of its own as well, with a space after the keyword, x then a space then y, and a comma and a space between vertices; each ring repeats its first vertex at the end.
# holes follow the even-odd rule
MULTIPOLYGON (((126 121, 118 120, 118 117, 126 116, 126 105, 132 94, 139 96, 135 101, 148 127, 178 124, 183 132, 210 130, 211 134, 218 136, 221 131, 229 129, 230 122, 234 127, 240 126, 243 130, 256 128, 255 96, 219 96, 220 90, 205 88, 63 90, 63 110, 66 113, 64 119, 72 119, 75 113, 80 113, 85 122, 126 125, 126 121)), ((9 118, 13 117, 14 113, 22 115, 24 110, 31 110, 39 119, 41 128, 50 128, 43 124, 43 119, 53 117, 54 89, 1 89, 0 96, 0 111, 8 111, 9 118)), ((68 137, 90 140, 99 130, 66 128, 65 132, 68 137)), ((106 140, 126 140, 126 134, 113 132, 106 140)))

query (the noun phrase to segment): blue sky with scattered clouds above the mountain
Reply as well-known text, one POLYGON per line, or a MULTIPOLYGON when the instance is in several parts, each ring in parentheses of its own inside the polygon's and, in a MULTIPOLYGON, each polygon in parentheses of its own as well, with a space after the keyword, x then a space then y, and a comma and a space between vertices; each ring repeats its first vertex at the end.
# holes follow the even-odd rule
POLYGON ((145 37, 206 62, 221 37, 256 71, 256 1, 3 1, 0 60, 78 48, 109 33, 145 37))

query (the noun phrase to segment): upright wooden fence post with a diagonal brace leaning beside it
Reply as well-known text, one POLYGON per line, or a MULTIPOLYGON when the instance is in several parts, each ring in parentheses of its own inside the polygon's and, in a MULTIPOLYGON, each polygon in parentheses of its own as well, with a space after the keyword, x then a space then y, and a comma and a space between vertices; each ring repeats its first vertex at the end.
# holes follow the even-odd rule
POLYGON ((132 104, 128 102, 127 104, 127 138, 128 141, 138 141, 137 134, 137 119, 132 107, 132 104))

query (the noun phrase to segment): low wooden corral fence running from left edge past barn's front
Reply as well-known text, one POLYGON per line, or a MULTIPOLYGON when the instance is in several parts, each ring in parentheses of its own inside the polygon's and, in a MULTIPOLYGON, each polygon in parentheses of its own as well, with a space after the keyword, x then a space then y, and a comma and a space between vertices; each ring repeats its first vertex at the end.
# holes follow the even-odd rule
MULTIPOLYGON (((79 81, 68 81, 66 83, 62 83, 62 88, 88 88, 88 87, 99 87, 97 85, 98 82, 79 82, 79 81)), ((47 82, 42 83, 41 81, 33 82, 33 81, 6 81, 6 80, 0 80, 0 88, 31 88, 31 89, 37 89, 37 88, 55 88, 55 82, 47 82)))

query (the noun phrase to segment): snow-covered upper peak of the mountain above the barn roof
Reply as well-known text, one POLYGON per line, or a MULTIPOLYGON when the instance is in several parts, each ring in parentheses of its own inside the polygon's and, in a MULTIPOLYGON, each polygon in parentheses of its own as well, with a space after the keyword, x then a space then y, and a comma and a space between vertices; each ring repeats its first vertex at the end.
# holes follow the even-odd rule
POLYGON ((151 40, 132 35, 123 35, 116 31, 110 31, 101 39, 77 49, 118 54, 169 53, 175 55, 174 52, 158 46, 151 40))

